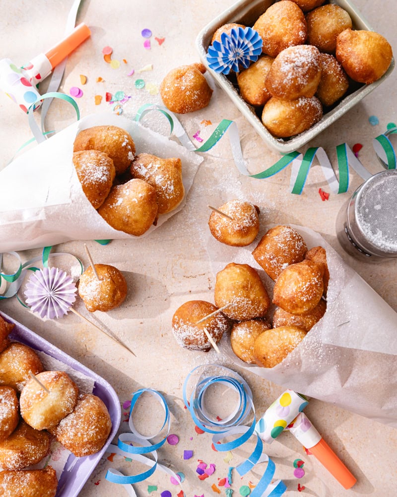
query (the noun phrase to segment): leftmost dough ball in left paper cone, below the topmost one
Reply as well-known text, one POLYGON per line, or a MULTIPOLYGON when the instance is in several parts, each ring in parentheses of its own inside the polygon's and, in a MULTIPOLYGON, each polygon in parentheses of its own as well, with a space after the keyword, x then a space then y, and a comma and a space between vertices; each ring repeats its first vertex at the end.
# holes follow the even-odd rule
POLYGON ((85 196, 98 209, 109 195, 116 176, 113 161, 98 150, 73 152, 73 164, 85 196))

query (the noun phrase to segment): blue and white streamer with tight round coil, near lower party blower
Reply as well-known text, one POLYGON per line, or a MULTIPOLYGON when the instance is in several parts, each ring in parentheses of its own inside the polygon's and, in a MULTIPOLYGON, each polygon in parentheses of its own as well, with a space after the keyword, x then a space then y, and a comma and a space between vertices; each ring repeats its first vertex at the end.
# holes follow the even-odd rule
POLYGON ((196 425, 199 426, 199 428, 201 428, 203 431, 213 434, 212 443, 214 444, 215 449, 219 452, 225 452, 240 447, 253 434, 255 434, 255 436, 257 437, 257 443, 254 451, 246 461, 236 466, 236 470, 239 475, 244 476, 246 473, 251 471, 256 464, 267 462, 265 473, 256 485, 255 489, 252 491, 251 497, 278 497, 284 494, 287 488, 281 480, 277 480, 273 484, 271 483, 275 473, 275 464, 263 452, 263 441, 259 437, 258 433, 255 431, 256 416, 252 398, 252 391, 248 383, 242 376, 240 376, 235 371, 227 368, 226 366, 219 366, 216 364, 197 366, 188 374, 184 382, 183 399, 196 425), (189 396, 187 393, 187 389, 189 380, 191 379, 192 375, 200 368, 211 367, 216 367, 226 374, 222 374, 219 376, 204 376, 198 381, 195 388, 192 389, 191 395, 189 396), (237 392, 239 395, 239 399, 234 411, 229 414, 226 419, 222 420, 215 420, 211 418, 205 412, 204 408, 204 396, 207 388, 217 383, 221 383, 227 386, 228 388, 237 392), (252 423, 249 426, 242 425, 241 423, 247 420, 248 416, 251 413, 253 414, 252 423), (232 435, 240 436, 235 438, 231 442, 221 442, 223 438, 232 435))

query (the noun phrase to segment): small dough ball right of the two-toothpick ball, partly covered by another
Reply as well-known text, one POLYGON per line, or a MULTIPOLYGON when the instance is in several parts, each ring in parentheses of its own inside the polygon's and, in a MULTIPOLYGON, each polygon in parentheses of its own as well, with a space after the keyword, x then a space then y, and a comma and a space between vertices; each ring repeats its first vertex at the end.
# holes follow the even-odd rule
POLYGON ((250 319, 233 325, 230 344, 239 359, 248 364, 255 364, 254 342, 257 337, 271 326, 265 319, 250 319))

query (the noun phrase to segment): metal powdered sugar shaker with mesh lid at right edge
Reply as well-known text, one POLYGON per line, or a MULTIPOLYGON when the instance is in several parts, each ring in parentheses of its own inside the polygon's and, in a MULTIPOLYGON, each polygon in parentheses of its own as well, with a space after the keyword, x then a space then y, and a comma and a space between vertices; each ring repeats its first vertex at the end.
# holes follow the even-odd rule
POLYGON ((349 222, 357 242, 375 255, 396 256, 397 170, 375 174, 358 188, 353 197, 349 222))

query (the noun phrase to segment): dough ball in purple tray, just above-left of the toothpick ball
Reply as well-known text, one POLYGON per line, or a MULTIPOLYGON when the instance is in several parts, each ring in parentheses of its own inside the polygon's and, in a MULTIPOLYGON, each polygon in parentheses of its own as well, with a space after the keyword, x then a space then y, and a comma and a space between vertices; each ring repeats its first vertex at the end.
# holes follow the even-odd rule
POLYGON ((19 342, 12 342, 0 354, 0 385, 8 385, 20 392, 30 374, 43 371, 43 364, 36 352, 19 342))

